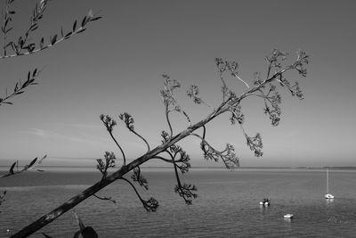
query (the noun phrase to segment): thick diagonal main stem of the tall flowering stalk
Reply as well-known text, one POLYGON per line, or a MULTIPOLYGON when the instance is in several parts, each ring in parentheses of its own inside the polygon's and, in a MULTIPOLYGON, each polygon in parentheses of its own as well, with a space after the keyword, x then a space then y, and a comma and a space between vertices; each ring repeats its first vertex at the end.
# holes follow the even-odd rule
MULTIPOLYGON (((49 212, 48 214, 44 215, 43 217, 40 217, 32 224, 21 229, 17 234, 13 234, 12 237, 25 237, 25 236, 28 236, 29 234, 33 234, 37 230, 39 230, 42 227, 46 226, 47 224, 53 222, 53 220, 56 219, 57 217, 61 217, 61 215, 64 214, 65 212, 67 212, 69 209, 74 208, 75 206, 77 206, 77 204, 79 204, 82 201, 85 201, 85 199, 92 196, 94 193, 97 193, 102 188, 113 183, 117 179, 126 180, 125 178, 123 178, 123 176, 125 174, 127 174, 129 171, 133 170, 134 168, 139 167, 140 165, 142 165, 143 163, 147 162, 148 160, 150 160, 152 158, 157 158, 159 153, 166 152, 167 149, 171 148, 171 146, 173 146, 177 142, 181 141, 183 138, 191 135, 198 128, 200 128, 200 127, 204 128, 204 126, 207 123, 209 123, 211 120, 215 119, 216 117, 218 117, 219 115, 221 115, 222 113, 224 113, 226 111, 230 111, 231 106, 238 106, 239 103, 241 102, 241 100, 245 99, 248 95, 255 94, 256 92, 258 92, 258 90, 263 88, 263 86, 266 86, 266 85, 270 84, 271 82, 276 81, 287 70, 297 70, 304 77, 305 70, 303 69, 303 66, 305 63, 308 63, 308 56, 303 52, 298 53, 298 58, 295 63, 287 66, 286 68, 277 70, 276 73, 273 76, 271 76, 271 78, 268 78, 268 79, 262 81, 257 86, 250 88, 246 93, 241 94, 239 97, 232 96, 232 94, 230 94, 229 99, 224 101, 223 103, 221 103, 220 106, 215 111, 208 114, 205 119, 201 119, 197 123, 191 125, 190 127, 187 127, 182 132, 180 132, 176 135, 171 135, 171 136, 166 135, 167 134, 166 133, 165 137, 164 137, 165 139, 162 144, 160 144, 156 148, 150 150, 150 152, 145 152, 141 157, 133 160, 132 162, 128 163, 127 165, 122 166, 114 173, 101 179, 101 181, 99 181, 96 184, 85 189, 85 191, 83 191, 82 193, 77 194, 76 196, 69 199, 69 201, 66 201, 63 204, 61 204, 61 206, 59 206, 57 209, 53 209, 53 211, 49 212)), ((164 91, 164 90, 162 90, 162 91, 164 91)), ((170 100, 170 101, 172 100, 172 98, 170 97, 170 95, 172 95, 172 94, 166 94, 166 91, 164 91, 164 92, 162 92, 162 91, 161 91, 161 94, 164 98, 164 103, 166 104, 167 102, 165 102, 165 100, 170 100)), ((256 142, 258 145, 257 136, 255 136, 255 139, 256 139, 256 141, 254 139, 252 139, 252 144, 255 145, 255 142, 256 142)), ((174 168, 176 168, 176 167, 174 167, 174 168)), ((126 182, 127 181, 128 180, 126 180, 126 182)), ((128 181, 128 183, 132 185, 132 183, 130 181, 128 181)), ((192 187, 190 187, 189 185, 187 185, 187 187, 184 187, 184 188, 192 189, 192 187)), ((135 188, 134 188, 134 190, 135 190, 135 188)), ((137 193, 137 190, 135 190, 135 193, 137 193)), ((148 206, 150 208, 154 208, 155 205, 158 206, 158 203, 155 203, 155 202, 157 202, 157 201, 153 199, 153 200, 147 201, 147 203, 142 202, 142 204, 143 204, 143 206, 148 206)), ((156 209, 157 209, 157 206, 156 206, 156 209)), ((145 207, 145 209, 147 209, 147 208, 145 207)))

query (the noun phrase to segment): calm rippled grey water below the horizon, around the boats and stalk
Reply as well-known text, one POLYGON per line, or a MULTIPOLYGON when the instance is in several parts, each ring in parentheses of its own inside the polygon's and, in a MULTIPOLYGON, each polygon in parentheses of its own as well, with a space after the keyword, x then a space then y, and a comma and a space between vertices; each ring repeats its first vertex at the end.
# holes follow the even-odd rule
MULTIPOLYGON (((187 206, 174 193, 172 171, 145 171, 149 192, 158 199, 156 213, 148 213, 125 182, 110 185, 101 195, 117 204, 90 198, 77 206, 86 226, 101 237, 355 237, 356 171, 329 173, 334 201, 323 198, 323 170, 241 169, 191 170, 184 182, 198 186, 198 199, 187 206), (260 208, 263 197, 271 207, 260 208), (284 214, 293 213, 287 220, 284 214)), ((6 201, 0 207, 0 237, 18 230, 81 192, 99 179, 98 172, 24 173, 0 179, 6 201)), ((41 232, 72 237, 77 224, 68 212, 41 232)), ((33 237, 43 237, 34 234, 33 237)))

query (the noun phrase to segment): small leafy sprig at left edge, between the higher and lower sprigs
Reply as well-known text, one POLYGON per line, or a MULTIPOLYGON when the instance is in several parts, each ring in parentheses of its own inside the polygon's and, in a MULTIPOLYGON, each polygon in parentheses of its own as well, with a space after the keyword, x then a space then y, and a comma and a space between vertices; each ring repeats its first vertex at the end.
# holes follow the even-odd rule
POLYGON ((40 72, 41 70, 37 69, 33 70, 32 72, 28 71, 27 79, 24 82, 21 82, 21 80, 19 80, 14 86, 12 94, 8 94, 6 90, 4 98, 0 97, 0 106, 3 104, 12 105, 13 103, 9 102, 12 97, 25 93, 25 90, 28 86, 37 85, 38 83, 36 82, 36 77, 39 75, 40 72))

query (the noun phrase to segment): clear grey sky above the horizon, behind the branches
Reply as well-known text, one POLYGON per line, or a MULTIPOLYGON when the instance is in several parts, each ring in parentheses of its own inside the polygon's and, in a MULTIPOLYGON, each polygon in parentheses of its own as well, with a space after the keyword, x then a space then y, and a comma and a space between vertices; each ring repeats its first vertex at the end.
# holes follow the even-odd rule
MULTIPOLYGON (((36 2, 15 1, 10 38, 28 28, 36 2)), ((288 52, 290 61, 299 49, 311 55, 306 78, 286 75, 299 81, 303 101, 279 87, 278 127, 263 114, 263 101, 242 103, 247 134, 263 137, 262 158, 255 158, 228 115, 207 125, 208 142, 216 149, 233 144, 243 167, 356 166, 355 1, 51 1, 32 39, 53 36, 61 26, 69 30, 91 9, 103 18, 82 34, 40 53, 1 60, 0 96, 28 70, 43 69, 38 86, 0 107, 1 166, 44 154, 50 166, 93 166, 106 151, 121 158, 101 113, 117 120, 114 135, 133 160, 145 144, 118 115, 133 115, 151 148, 160 144, 161 131, 168 130, 159 94, 162 74, 181 82, 177 100, 197 122, 209 108, 192 103, 185 92, 197 85, 204 101, 221 103, 214 58, 239 62, 239 76, 251 83, 255 71, 265 75, 264 57, 273 48, 288 52)), ((246 90, 232 78, 227 82, 238 94, 246 90)), ((172 122, 174 133, 187 126, 179 114, 172 122)), ((193 166, 223 166, 203 159, 197 138, 179 144, 193 166)))

